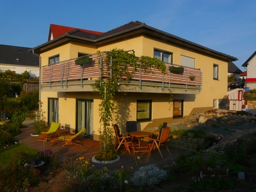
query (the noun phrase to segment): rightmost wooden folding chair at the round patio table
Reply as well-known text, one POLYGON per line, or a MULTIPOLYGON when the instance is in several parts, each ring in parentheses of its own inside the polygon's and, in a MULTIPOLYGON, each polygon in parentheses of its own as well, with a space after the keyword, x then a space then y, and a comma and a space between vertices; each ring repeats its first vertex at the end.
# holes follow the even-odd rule
POLYGON ((159 135, 159 139, 149 138, 148 147, 150 148, 150 151, 149 151, 148 155, 151 154, 153 148, 157 147, 157 149, 159 150, 159 153, 163 159, 164 157, 160 150, 161 145, 165 145, 168 150, 168 153, 171 155, 170 150, 167 146, 167 140, 169 137, 169 133, 170 133, 170 127, 164 127, 161 129, 161 134, 159 135))

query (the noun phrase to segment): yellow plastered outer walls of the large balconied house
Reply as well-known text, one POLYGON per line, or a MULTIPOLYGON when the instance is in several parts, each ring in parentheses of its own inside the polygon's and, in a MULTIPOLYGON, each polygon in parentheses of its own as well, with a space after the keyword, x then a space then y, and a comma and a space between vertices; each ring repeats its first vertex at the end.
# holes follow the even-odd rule
MULTIPOLYGON (((178 122, 184 120, 184 118, 172 118, 172 99, 183 99, 184 100, 184 117, 192 115, 196 111, 205 111, 212 109, 213 100, 216 99, 219 102, 227 95, 227 70, 228 62, 217 60, 205 55, 198 54, 191 50, 186 50, 184 47, 175 47, 174 45, 164 44, 157 42, 150 38, 143 36, 136 37, 133 39, 127 39, 122 42, 116 42, 111 45, 104 45, 98 47, 88 46, 84 47, 83 44, 66 44, 57 47, 51 51, 43 52, 42 66, 48 65, 49 57, 56 54, 60 54, 60 61, 68 60, 70 58, 76 58, 77 52, 95 53, 96 51, 109 51, 110 49, 118 48, 124 50, 135 51, 136 56, 154 56, 154 48, 162 49, 164 51, 173 52, 173 63, 180 64, 180 55, 195 58, 195 68, 200 68, 203 73, 203 86, 200 94, 189 95, 189 94, 157 94, 157 93, 127 93, 127 95, 117 95, 116 100, 119 103, 120 109, 116 111, 113 116, 114 122, 118 123, 122 129, 124 129, 125 122, 127 120, 136 120, 136 100, 137 99, 152 99, 152 121, 141 122, 138 124, 138 130, 143 130, 146 127, 156 127, 160 123, 178 122), (219 78, 218 80, 213 79, 213 65, 219 65, 219 78), (128 111, 127 111, 128 107, 128 111)), ((99 95, 97 93, 87 92, 68 92, 68 93, 56 93, 56 92, 44 92, 42 90, 42 102, 44 106, 42 109, 47 112, 47 99, 49 97, 59 98, 59 122, 65 124, 65 127, 70 132, 76 128, 76 99, 93 99, 93 129, 94 139, 98 140, 99 136, 99 95), (64 97, 65 95, 65 97, 64 97), (66 98, 66 99, 64 99, 66 98)), ((113 122, 113 123, 114 123, 113 122)), ((125 130, 122 130, 125 131, 125 130)))

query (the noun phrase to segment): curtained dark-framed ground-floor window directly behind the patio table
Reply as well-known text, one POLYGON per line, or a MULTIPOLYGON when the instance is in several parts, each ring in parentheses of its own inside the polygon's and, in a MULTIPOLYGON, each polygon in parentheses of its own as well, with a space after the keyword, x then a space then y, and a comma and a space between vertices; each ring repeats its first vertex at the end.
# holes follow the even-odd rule
POLYGON ((137 122, 152 120, 152 100, 137 100, 137 122))

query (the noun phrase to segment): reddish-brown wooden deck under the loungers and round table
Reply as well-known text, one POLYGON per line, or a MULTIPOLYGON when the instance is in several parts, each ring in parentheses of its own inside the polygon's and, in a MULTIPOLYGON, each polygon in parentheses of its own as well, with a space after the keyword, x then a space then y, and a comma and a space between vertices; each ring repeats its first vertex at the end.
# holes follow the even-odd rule
POLYGON ((152 151, 150 156, 148 156, 148 152, 139 152, 135 155, 132 152, 131 154, 129 154, 129 152, 127 152, 124 147, 120 147, 118 149, 118 156, 120 156, 120 160, 118 162, 112 164, 97 164, 92 162, 92 157, 95 156, 95 154, 97 154, 97 152, 99 151, 99 142, 93 140, 92 138, 79 136, 78 140, 83 141, 83 147, 79 147, 77 145, 67 145, 62 147, 63 142, 61 141, 55 143, 54 146, 51 146, 51 141, 37 141, 36 136, 31 136, 31 133, 35 131, 35 129, 33 129, 33 126, 21 128, 21 131, 22 134, 19 134, 19 136, 17 136, 16 138, 20 142, 28 145, 29 147, 35 148, 38 151, 52 150, 52 152, 58 153, 60 159, 76 159, 77 157, 84 157, 84 159, 86 159, 86 161, 90 161, 90 164, 93 164, 95 169, 97 170, 100 170, 103 167, 106 167, 109 170, 120 170, 121 166, 124 166, 125 169, 132 167, 135 171, 140 166, 145 166, 147 164, 156 164, 159 167, 163 167, 172 164, 173 161, 175 161, 175 158, 180 154, 188 153, 188 151, 186 150, 169 147, 172 154, 172 156, 170 156, 166 148, 161 147, 161 152, 164 157, 164 159, 162 159, 157 148, 152 151), (137 159, 138 156, 140 156, 140 161, 137 159))

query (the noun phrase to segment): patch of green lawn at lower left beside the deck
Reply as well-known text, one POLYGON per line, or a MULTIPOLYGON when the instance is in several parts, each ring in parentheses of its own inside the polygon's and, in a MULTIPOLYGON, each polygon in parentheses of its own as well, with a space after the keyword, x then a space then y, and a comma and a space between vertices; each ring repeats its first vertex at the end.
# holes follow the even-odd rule
POLYGON ((12 145, 0 150, 0 167, 4 168, 6 165, 17 161, 17 154, 21 153, 28 154, 29 156, 38 156, 37 150, 28 147, 24 143, 12 145))

